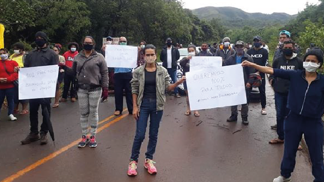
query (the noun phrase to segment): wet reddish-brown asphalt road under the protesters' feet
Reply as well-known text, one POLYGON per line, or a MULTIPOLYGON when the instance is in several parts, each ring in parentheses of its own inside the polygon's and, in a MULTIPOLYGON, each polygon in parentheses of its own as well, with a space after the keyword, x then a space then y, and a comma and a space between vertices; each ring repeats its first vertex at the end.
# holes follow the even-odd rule
MULTIPOLYGON (((0 180, 271 182, 279 175, 284 146, 268 144, 276 137, 275 130, 270 129, 275 123, 270 87, 267 87, 268 114, 261 115, 260 103, 251 103, 249 110, 248 126, 241 124, 240 117, 237 122, 227 123, 229 107, 200 111, 200 117, 185 116, 185 98, 169 96, 154 155, 158 172, 149 175, 143 167, 147 137, 136 177, 127 176, 135 122, 131 115, 111 116, 113 97, 100 104, 99 121, 111 117, 99 125, 95 149, 76 147, 81 136, 77 103, 60 103, 59 108, 52 109, 56 141, 54 145, 49 140, 45 146, 39 145, 39 141, 20 145, 29 132, 28 115, 11 122, 7 120, 7 110, 2 110, 0 180)), ((296 160, 293 181, 312 181, 305 150, 298 152, 296 160)))

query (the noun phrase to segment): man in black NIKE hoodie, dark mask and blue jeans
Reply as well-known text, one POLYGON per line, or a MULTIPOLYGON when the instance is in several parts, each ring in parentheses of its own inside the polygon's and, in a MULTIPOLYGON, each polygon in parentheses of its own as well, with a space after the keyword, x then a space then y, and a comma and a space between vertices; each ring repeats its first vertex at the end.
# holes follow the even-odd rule
MULTIPOLYGON (((297 70, 303 69, 303 62, 294 53, 295 43, 292 40, 285 41, 282 47, 281 57, 276 58, 272 63, 272 68, 297 70)), ((269 78, 269 83, 274 89, 274 103, 277 118, 277 134, 278 138, 271 140, 270 144, 282 144, 285 140, 284 134, 284 120, 289 113, 287 108, 288 90, 290 81, 275 77, 273 75, 269 78)), ((273 127, 273 126, 271 126, 273 127)))

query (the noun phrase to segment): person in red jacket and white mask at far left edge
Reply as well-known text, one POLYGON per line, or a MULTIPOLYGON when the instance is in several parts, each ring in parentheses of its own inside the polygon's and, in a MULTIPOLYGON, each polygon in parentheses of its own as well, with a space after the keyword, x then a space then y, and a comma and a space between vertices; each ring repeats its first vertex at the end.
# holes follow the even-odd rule
POLYGON ((15 121, 17 118, 13 115, 15 97, 15 86, 13 83, 18 79, 18 73, 15 72, 15 67, 18 67, 18 63, 8 58, 8 51, 6 49, 0 49, 0 62, 0 110, 5 97, 7 97, 8 116, 11 121, 15 121))

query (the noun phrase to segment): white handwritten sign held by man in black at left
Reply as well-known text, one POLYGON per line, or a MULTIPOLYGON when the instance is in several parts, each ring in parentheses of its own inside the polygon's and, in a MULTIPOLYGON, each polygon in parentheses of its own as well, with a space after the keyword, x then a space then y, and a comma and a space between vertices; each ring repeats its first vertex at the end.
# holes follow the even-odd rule
POLYGON ((55 97, 57 65, 20 68, 19 100, 55 97))

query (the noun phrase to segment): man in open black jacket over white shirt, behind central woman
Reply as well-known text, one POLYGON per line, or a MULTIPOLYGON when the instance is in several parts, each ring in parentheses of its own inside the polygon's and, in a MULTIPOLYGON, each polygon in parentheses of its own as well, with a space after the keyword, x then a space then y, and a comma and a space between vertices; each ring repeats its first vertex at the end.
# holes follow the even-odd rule
MULTIPOLYGON (((172 39, 167 38, 167 46, 164 47, 160 54, 160 61, 163 62, 163 67, 168 70, 168 73, 175 83, 177 81, 177 61, 180 59, 180 53, 177 48, 172 45, 172 39)), ((175 97, 180 98, 178 93, 178 87, 174 89, 175 97)))

